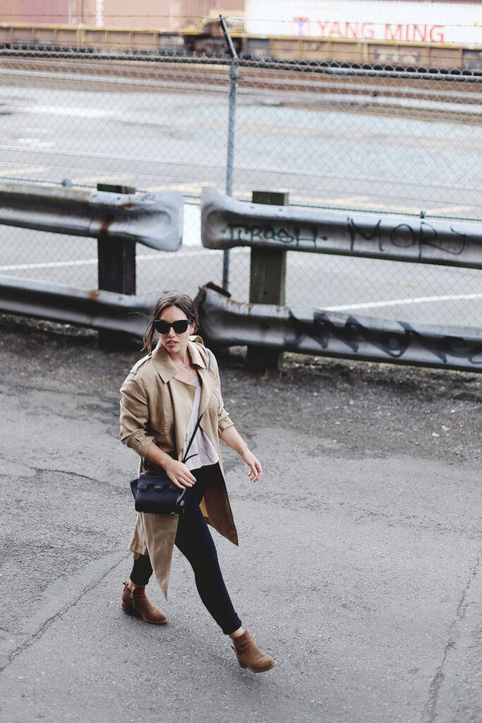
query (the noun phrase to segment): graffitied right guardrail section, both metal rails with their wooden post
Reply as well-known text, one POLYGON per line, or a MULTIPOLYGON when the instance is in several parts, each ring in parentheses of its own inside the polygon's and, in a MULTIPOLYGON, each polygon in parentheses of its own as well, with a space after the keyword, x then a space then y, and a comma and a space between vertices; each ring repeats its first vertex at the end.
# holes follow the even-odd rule
POLYGON ((251 247, 250 301, 262 303, 240 304, 210 288, 201 301, 203 333, 221 346, 247 344, 251 367, 276 367, 284 350, 482 371, 475 328, 285 307, 283 259, 301 251, 481 269, 481 223, 249 203, 210 188, 201 218, 205 247, 251 247))

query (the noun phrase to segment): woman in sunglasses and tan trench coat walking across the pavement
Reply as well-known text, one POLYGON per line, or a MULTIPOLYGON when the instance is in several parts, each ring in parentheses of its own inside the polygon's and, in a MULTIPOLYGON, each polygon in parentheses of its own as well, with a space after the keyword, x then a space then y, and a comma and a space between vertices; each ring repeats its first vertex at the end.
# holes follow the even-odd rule
POLYGON ((124 582, 122 609, 147 623, 167 618, 152 605, 145 586, 154 572, 167 598, 173 547, 189 560, 202 602, 225 635, 242 668, 264 672, 275 659, 264 654, 241 625, 226 590, 207 523, 238 544, 223 476, 219 440, 236 450, 257 482, 262 467, 236 431, 223 406, 218 364, 202 344, 189 338, 199 318, 186 294, 165 294, 152 310, 145 335, 149 354, 137 362, 121 387, 121 440, 141 458, 140 469, 163 468, 173 484, 186 488, 182 515, 137 513, 129 549, 134 566, 124 582), (153 348, 156 331, 157 346, 153 348), (202 419, 189 449, 181 460, 202 419))

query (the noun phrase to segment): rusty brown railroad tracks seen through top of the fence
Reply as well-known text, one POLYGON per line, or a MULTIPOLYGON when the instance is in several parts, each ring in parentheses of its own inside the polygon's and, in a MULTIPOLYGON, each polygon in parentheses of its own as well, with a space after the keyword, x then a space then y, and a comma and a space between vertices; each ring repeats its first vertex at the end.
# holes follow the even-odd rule
MULTIPOLYGON (((193 59, 169 58, 165 61, 145 59, 108 59, 103 56, 53 57, 25 56, 12 51, 0 51, 0 77, 18 74, 35 74, 39 78, 57 77, 63 82, 78 80, 83 83, 106 83, 129 87, 142 86, 152 90, 160 88, 184 88, 186 90, 221 90, 228 88, 229 66, 227 61, 203 62, 193 59)), ((243 62, 239 68, 238 90, 244 93, 267 95, 288 94, 288 103, 310 105, 323 104, 323 98, 331 97, 337 103, 343 98, 370 100, 379 103, 388 100, 418 100, 427 103, 462 103, 475 109, 482 105, 482 77, 479 75, 423 74, 416 72, 392 72, 376 69, 344 69, 254 65, 243 62), (337 71, 337 72, 335 72, 337 71)), ((400 107, 400 104, 398 104, 400 107)))

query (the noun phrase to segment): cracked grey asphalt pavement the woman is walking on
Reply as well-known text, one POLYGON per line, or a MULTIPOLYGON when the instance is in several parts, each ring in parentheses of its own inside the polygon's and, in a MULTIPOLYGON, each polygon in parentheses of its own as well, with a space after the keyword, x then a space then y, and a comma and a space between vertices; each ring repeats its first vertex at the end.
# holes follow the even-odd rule
POLYGON ((217 533, 244 625, 277 667, 238 667, 191 570, 162 627, 121 612, 137 457, 119 386, 139 357, 95 334, 0 317, 0 715, 475 723, 482 718, 481 375, 220 356, 225 406, 259 455, 225 468, 241 545, 217 533))

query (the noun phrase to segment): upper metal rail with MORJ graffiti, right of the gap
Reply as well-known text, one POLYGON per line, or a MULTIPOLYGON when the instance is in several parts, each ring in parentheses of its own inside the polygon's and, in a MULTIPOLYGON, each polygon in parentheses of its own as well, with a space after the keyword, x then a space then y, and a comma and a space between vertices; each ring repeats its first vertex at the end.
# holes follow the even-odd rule
POLYGON ((238 201, 202 189, 202 244, 482 269, 482 223, 238 201))

